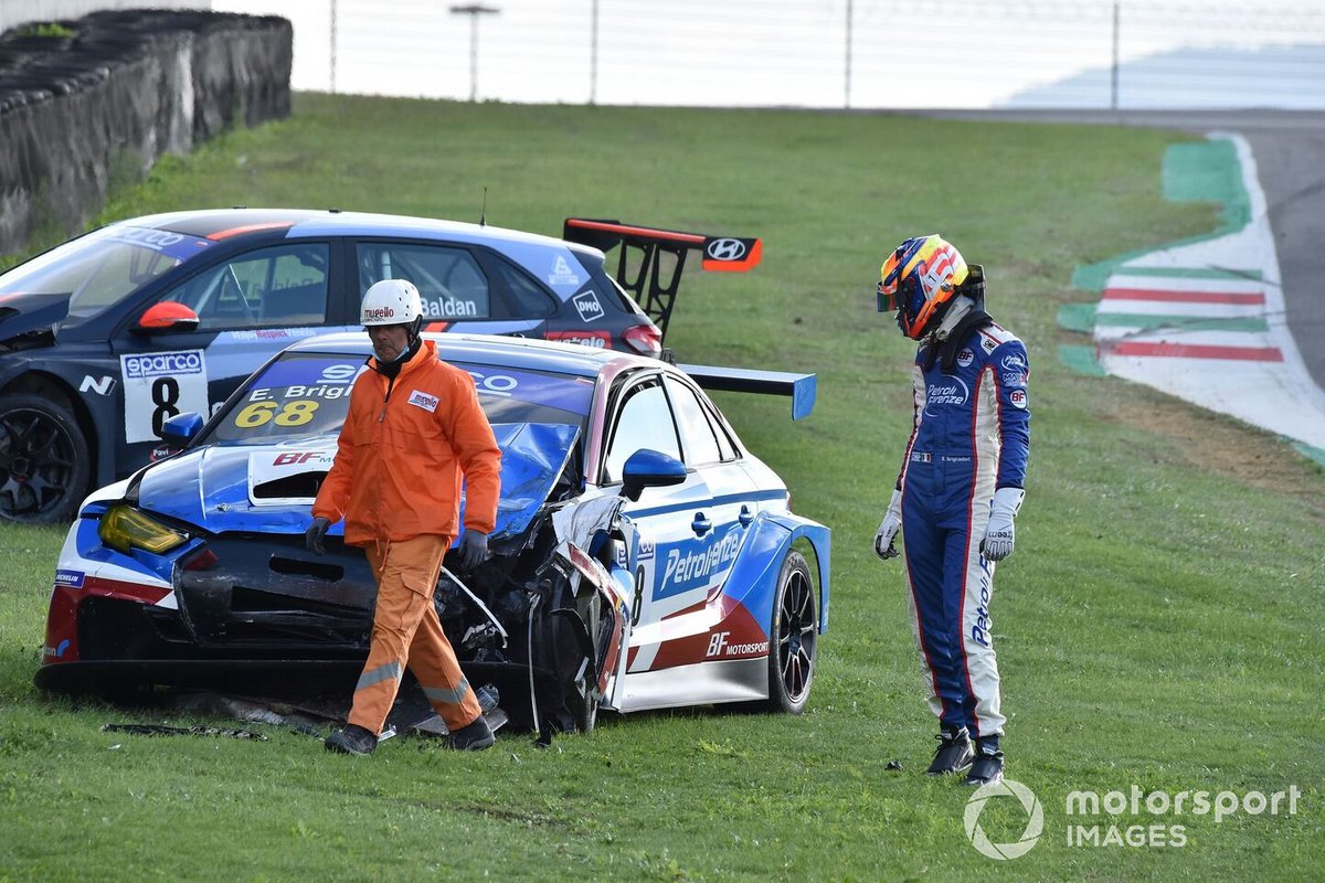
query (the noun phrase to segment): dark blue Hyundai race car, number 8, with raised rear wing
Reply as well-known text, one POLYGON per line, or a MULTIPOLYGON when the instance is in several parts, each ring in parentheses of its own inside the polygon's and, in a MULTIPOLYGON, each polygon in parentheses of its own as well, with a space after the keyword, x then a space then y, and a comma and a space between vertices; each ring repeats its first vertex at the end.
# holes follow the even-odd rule
POLYGON ((209 414, 294 340, 358 328, 379 279, 412 281, 432 331, 657 356, 693 250, 709 270, 759 261, 758 240, 611 220, 567 218, 558 240, 335 210, 175 212, 70 240, 0 274, 0 520, 68 522, 148 462, 166 420, 209 414))

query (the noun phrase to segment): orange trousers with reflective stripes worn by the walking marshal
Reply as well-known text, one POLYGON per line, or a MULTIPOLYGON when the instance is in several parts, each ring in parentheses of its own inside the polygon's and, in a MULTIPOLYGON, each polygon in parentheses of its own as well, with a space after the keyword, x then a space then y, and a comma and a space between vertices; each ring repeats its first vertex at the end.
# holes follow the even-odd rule
POLYGON ((424 535, 364 548, 378 582, 378 606, 368 661, 354 690, 351 724, 382 732, 407 666, 452 732, 482 714, 432 604, 449 547, 449 536, 424 535))

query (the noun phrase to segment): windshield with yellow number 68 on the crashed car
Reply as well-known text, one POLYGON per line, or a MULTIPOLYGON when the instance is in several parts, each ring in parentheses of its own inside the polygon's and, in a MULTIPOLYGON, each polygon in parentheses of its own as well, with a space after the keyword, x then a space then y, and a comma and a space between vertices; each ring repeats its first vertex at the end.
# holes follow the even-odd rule
MULTIPOLYGON (((501 425, 554 425, 582 430, 594 395, 588 377, 497 365, 452 363, 474 377, 488 420, 501 425)), ((350 410, 350 388, 364 357, 285 353, 254 375, 211 424, 199 443, 270 445, 335 436, 350 410)))

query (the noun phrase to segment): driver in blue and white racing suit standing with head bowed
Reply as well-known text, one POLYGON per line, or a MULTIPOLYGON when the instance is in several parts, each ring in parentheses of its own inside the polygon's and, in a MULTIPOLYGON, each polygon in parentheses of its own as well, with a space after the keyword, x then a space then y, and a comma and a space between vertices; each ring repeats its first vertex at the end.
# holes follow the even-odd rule
POLYGON ((929 773, 1003 777, 1004 718, 994 658, 994 568, 1012 553, 1026 491, 1031 412, 1026 346, 984 311, 984 270, 937 234, 898 245, 880 269, 878 311, 920 343, 914 414, 874 552, 902 534, 909 608, 938 749, 929 773))

